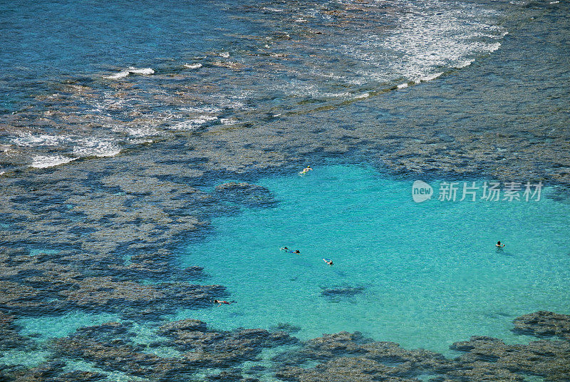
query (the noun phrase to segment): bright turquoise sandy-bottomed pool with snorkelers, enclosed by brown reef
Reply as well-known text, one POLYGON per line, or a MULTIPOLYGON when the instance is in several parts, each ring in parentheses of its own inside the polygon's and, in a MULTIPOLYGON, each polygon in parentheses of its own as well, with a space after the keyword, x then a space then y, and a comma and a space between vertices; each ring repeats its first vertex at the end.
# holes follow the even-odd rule
POLYGON ((174 318, 219 329, 288 323, 301 339, 362 331, 448 353, 472 335, 527 341, 509 331, 522 314, 570 313, 570 205, 549 190, 539 202, 415 203, 412 181, 343 165, 257 184, 277 207, 215 219, 212 237, 182 255, 237 303, 174 318), (507 246, 497 250, 497 240, 507 246), (355 294, 322 294, 346 287, 355 294))

